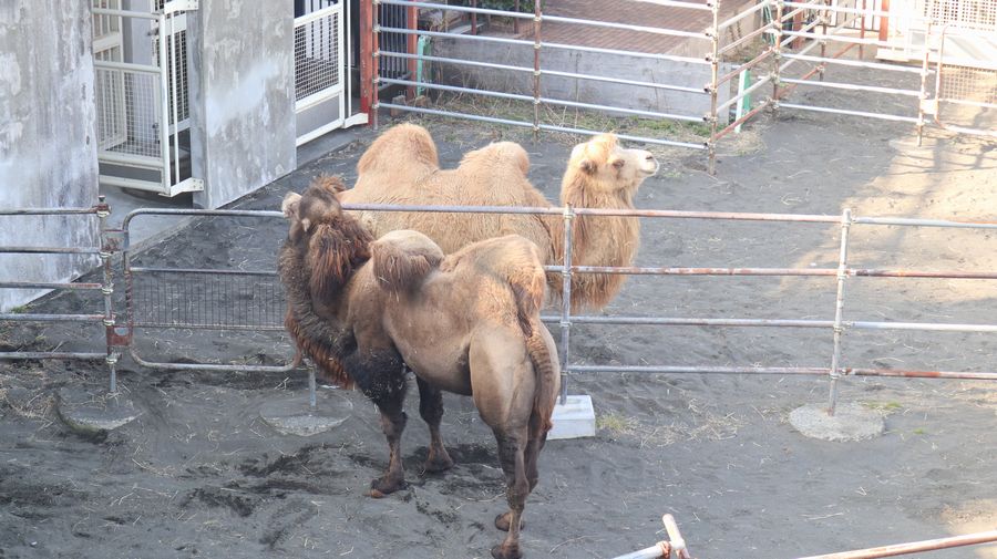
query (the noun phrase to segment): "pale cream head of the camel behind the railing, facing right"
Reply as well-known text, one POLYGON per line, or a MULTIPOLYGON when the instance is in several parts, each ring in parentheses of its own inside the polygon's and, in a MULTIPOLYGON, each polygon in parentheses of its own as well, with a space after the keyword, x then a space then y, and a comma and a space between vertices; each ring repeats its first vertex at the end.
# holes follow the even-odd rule
POLYGON ((658 172, 650 152, 619 146, 615 134, 599 134, 572 149, 562 183, 562 200, 574 188, 589 194, 616 194, 630 203, 645 178, 658 172))

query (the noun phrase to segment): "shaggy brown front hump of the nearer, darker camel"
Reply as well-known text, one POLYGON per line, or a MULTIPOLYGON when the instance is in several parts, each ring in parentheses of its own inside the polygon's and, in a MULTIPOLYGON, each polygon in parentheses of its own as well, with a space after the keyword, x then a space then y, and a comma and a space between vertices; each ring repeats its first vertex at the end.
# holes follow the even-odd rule
POLYGON ((443 260, 439 245, 410 229, 391 231, 373 241, 370 253, 374 277, 392 291, 418 286, 443 260))

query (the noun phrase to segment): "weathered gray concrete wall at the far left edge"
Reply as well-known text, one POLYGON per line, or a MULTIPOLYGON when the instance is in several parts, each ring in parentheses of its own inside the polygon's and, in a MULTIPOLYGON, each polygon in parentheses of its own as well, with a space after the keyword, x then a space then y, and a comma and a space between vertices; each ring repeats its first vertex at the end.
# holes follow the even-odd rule
MULTIPOLYGON (((90 3, 0 1, 0 207, 97 201, 90 3)), ((96 245, 94 218, 0 216, 0 246, 96 245)), ((95 263, 0 255, 0 281, 68 281, 95 263)), ((0 309, 39 294, 0 289, 0 309)))

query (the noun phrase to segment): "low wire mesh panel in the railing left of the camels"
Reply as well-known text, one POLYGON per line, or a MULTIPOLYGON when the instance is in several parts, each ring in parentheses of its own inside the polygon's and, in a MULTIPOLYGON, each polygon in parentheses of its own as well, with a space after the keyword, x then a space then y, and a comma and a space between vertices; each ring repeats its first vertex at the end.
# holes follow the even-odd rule
POLYGON ((282 331, 285 309, 274 272, 132 270, 134 327, 282 331))

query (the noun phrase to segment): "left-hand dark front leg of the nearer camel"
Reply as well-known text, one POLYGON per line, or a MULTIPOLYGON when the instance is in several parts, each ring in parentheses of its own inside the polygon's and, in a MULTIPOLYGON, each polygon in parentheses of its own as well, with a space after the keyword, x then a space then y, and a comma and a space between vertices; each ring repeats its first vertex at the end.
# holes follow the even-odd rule
POLYGON ((370 483, 369 493, 371 497, 381 498, 405 487, 401 434, 408 422, 403 411, 408 386, 401 356, 395 353, 370 353, 361 359, 353 354, 346 366, 363 394, 381 412, 381 429, 388 438, 388 470, 370 483))

